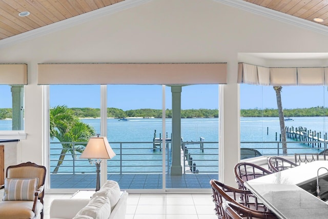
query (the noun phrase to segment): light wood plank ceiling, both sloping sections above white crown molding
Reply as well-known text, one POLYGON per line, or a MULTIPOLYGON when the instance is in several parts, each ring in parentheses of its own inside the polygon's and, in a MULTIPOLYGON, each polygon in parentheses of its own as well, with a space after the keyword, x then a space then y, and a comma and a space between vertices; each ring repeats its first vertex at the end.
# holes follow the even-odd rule
MULTIPOLYGON (((150 1, 150 0, 147 0, 150 1)), ((120 4, 133 5, 146 0, 0 0, 0 40, 26 33, 66 19, 101 8, 116 7, 120 4), (30 12, 19 16, 20 12, 30 12)), ((179 0, 175 0, 179 1, 179 0)), ((328 27, 328 1, 326 0, 215 0, 228 4, 239 2, 257 10, 274 10, 281 15, 291 15, 313 22, 322 18, 319 24, 328 27), (265 8, 265 9, 264 9, 265 8)), ((199 1, 201 3, 201 1, 199 1)), ((243 7, 243 6, 242 6, 243 7)), ((316 22, 317 23, 317 22, 316 22)))

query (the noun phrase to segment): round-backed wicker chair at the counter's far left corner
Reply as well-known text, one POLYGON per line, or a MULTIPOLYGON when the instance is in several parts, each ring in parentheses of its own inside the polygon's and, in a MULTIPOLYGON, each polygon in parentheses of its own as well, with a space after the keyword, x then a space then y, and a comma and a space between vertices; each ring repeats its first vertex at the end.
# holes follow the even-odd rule
POLYGON ((238 188, 245 190, 247 190, 247 188, 244 187, 245 181, 253 180, 254 178, 273 173, 270 170, 267 170, 261 166, 247 162, 236 164, 234 167, 234 172, 238 188))

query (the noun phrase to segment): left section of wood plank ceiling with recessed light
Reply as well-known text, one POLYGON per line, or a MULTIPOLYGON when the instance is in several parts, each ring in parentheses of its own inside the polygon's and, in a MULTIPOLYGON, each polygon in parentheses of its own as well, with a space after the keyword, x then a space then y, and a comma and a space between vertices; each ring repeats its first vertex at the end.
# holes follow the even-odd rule
POLYGON ((0 0, 0 40, 124 0, 0 0), (20 17, 20 12, 30 15, 20 17))

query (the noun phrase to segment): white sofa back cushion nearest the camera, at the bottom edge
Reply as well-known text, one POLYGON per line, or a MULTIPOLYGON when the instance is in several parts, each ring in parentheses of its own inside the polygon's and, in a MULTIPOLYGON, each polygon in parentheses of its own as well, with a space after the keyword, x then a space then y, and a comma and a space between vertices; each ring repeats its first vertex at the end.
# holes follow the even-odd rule
POLYGON ((111 207, 108 197, 96 196, 90 200, 88 205, 79 210, 77 216, 90 216, 94 219, 108 218, 111 214, 111 207))

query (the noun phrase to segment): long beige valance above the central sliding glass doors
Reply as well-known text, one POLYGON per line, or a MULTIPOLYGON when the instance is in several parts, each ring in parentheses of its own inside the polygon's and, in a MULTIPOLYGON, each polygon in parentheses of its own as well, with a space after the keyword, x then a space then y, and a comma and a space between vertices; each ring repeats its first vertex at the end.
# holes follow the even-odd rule
POLYGON ((227 63, 38 64, 37 84, 227 84, 227 63))

